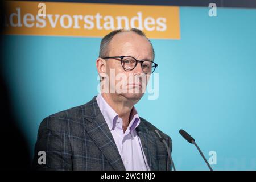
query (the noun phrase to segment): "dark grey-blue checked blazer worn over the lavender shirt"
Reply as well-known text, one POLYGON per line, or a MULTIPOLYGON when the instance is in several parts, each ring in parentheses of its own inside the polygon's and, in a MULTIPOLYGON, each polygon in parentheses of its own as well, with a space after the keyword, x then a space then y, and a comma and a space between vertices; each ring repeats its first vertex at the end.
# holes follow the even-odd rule
MULTIPOLYGON (((136 128, 151 170, 171 170, 166 147, 156 127, 141 118, 136 128)), ((159 121, 160 122, 160 121, 159 121)), ((171 138, 166 139, 172 151, 171 138)), ((32 168, 36 170, 125 170, 96 96, 88 103, 50 115, 40 123, 32 168), (39 164, 46 152, 46 164, 39 164)))

